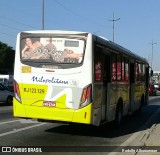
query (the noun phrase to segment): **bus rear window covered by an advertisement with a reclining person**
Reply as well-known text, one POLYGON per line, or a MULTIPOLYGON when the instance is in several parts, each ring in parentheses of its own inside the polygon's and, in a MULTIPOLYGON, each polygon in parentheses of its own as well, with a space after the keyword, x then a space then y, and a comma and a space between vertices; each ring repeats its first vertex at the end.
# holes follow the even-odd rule
POLYGON ((83 60, 84 38, 24 37, 21 38, 21 60, 54 64, 80 64, 83 60))

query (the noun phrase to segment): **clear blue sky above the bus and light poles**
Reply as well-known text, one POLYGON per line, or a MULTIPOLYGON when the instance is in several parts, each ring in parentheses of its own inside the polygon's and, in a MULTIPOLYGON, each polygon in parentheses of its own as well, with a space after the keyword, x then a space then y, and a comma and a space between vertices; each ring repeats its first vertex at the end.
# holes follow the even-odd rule
MULTIPOLYGON (((91 32, 113 41, 113 19, 114 42, 160 71, 160 0, 44 0, 45 30, 91 32)), ((1 42, 15 49, 19 32, 41 29, 42 0, 0 0, 1 42)))

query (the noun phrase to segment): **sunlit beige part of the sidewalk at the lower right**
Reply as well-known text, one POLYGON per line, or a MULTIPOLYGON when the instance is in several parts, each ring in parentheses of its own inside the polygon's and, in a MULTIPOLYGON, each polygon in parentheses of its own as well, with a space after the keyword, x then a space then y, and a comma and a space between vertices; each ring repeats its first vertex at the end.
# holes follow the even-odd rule
MULTIPOLYGON (((160 117, 160 116, 159 116, 160 117)), ((143 130, 127 146, 120 147, 122 152, 112 152, 109 155, 160 155, 160 123, 143 130)))

